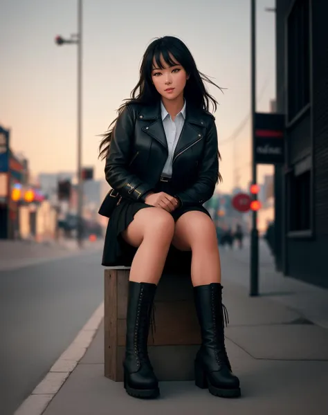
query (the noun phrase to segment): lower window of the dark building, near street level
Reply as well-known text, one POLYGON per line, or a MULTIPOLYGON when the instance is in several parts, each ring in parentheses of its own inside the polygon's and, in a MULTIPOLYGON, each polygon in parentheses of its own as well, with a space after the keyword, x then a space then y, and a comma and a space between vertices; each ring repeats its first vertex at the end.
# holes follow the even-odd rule
POLYGON ((311 171, 289 176, 289 230, 309 230, 311 212, 311 171))

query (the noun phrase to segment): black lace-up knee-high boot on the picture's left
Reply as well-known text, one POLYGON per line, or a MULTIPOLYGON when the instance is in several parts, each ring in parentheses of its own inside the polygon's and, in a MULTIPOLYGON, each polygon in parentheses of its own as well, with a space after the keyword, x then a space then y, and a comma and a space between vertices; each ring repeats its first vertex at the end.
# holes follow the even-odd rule
POLYGON ((156 398, 158 380, 147 352, 147 340, 156 284, 129 282, 124 387, 136 398, 156 398))

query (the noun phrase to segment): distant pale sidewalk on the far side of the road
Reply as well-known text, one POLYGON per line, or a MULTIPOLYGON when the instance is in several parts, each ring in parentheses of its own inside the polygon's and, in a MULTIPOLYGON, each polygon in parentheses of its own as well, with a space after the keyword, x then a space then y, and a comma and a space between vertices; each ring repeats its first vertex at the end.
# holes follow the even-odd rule
POLYGON ((94 252, 95 250, 101 250, 103 245, 102 239, 95 242, 84 241, 82 249, 72 239, 62 239, 48 243, 0 240, 0 271, 94 252))

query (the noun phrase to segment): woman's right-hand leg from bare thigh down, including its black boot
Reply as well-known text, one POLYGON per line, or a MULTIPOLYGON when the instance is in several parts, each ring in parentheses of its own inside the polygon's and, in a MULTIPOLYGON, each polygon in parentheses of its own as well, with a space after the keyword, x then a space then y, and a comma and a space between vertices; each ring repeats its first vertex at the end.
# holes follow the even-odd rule
POLYGON ((176 222, 172 243, 192 250, 192 285, 201 347, 195 359, 195 384, 215 396, 240 396, 239 379, 232 373, 224 345, 224 306, 215 225, 203 212, 187 212, 176 222))

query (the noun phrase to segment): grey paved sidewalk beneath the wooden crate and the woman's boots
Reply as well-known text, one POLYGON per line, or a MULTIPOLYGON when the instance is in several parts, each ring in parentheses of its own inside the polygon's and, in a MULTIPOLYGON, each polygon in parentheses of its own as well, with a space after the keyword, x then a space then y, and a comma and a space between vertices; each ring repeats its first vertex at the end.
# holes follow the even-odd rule
MULTIPOLYGON (((45 415, 327 415, 328 330, 304 320, 302 313, 275 301, 276 296, 249 297, 248 288, 243 286, 246 284, 236 284, 239 275, 248 276, 239 253, 222 252, 221 256, 224 302, 230 317, 226 347, 241 381, 242 398, 216 398, 193 382, 161 382, 158 400, 131 398, 122 383, 104 377, 100 324, 91 346, 75 369, 64 376, 66 382, 58 393, 51 391, 49 378, 48 394, 35 389, 30 410, 21 407, 17 415, 42 413, 40 407, 39 412, 33 409, 33 396, 35 403, 42 399, 48 403, 53 398, 45 415)), ((298 297, 302 292, 296 286, 293 288, 298 297)), ((311 295, 311 291, 303 291, 303 295, 311 295)))

